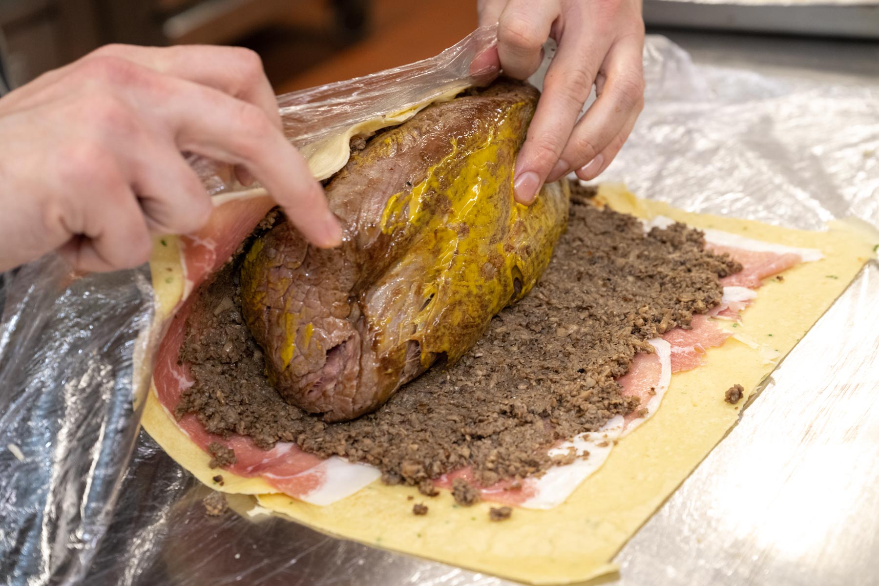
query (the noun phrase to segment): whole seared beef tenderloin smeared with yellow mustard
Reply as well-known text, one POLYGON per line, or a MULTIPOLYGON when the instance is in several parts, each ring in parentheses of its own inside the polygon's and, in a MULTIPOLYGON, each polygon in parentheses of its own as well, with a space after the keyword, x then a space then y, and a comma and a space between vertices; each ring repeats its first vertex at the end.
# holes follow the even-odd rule
POLYGON ((345 229, 309 246, 282 221, 241 271, 244 320, 272 386, 328 422, 378 408, 454 362, 546 268, 566 185, 514 203, 512 172, 538 92, 521 83, 433 105, 375 136, 326 186, 345 229))

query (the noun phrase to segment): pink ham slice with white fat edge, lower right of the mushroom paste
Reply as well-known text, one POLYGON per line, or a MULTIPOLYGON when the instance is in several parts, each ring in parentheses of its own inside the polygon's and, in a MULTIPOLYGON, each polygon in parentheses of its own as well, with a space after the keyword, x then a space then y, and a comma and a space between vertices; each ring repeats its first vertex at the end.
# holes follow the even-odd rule
POLYGON ((552 509, 563 503, 581 482, 604 464, 617 439, 634 430, 659 408, 672 381, 672 352, 670 344, 661 338, 650 340, 650 345, 655 352, 638 354, 629 372, 619 380, 622 394, 641 398, 643 412, 616 416, 600 430, 581 433, 549 450, 550 456, 564 456, 574 450, 577 459, 570 464, 551 467, 537 478, 519 482, 505 480, 490 487, 478 487, 472 470, 464 468, 442 476, 435 484, 450 488, 455 479, 462 478, 479 488, 484 501, 525 509, 552 509))

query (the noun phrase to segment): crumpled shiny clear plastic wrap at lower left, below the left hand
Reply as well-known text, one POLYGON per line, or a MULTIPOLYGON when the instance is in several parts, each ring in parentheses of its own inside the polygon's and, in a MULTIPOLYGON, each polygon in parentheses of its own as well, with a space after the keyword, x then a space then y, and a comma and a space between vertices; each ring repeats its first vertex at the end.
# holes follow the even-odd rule
POLYGON ((132 389, 149 326, 146 271, 77 278, 60 257, 3 283, 0 582, 88 570, 138 436, 132 389))

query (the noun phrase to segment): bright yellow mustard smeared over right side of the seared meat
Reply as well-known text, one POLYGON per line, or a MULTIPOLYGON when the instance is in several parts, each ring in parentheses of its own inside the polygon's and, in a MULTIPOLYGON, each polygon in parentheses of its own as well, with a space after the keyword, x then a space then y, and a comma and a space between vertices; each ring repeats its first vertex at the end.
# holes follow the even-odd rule
MULTIPOLYGON (((381 215, 381 231, 418 230, 405 262, 422 264, 414 284, 424 307, 417 329, 399 322, 400 331, 385 331, 396 322, 393 311, 374 318, 382 342, 416 340, 422 365, 445 354, 454 361, 476 342, 490 317, 525 295, 540 277, 561 235, 568 208, 567 184, 545 186, 531 206, 512 199, 512 156, 524 140, 519 120, 530 117, 526 103, 503 112, 488 133, 471 134, 428 170, 409 191, 393 195, 381 215), (438 213, 436 193, 447 205, 438 213), (425 264, 425 259, 432 259, 425 264), (517 287, 514 281, 519 280, 517 287), (384 335, 381 333, 384 331, 384 335)), ((390 145, 389 145, 390 146, 390 145)), ((383 279, 393 279, 394 267, 383 279)), ((412 272, 411 270, 408 272, 412 272)), ((388 309, 388 307, 384 307, 388 309)))

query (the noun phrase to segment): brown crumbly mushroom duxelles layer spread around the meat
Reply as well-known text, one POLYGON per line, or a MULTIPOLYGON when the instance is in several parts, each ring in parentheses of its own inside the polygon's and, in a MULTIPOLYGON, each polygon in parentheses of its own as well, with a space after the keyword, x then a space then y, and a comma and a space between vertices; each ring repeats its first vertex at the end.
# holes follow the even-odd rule
MULTIPOLYGON (((636 218, 572 189, 568 231, 538 285, 457 363, 432 368, 350 422, 318 421, 272 388, 230 263, 187 320, 180 356, 195 383, 175 416, 193 413, 208 432, 248 436, 266 450, 284 441, 364 462, 382 481, 425 496, 437 494, 431 479, 461 468, 479 486, 547 470, 558 463, 548 446, 642 408, 616 379, 652 350, 647 340, 716 307, 718 279, 741 269, 704 250, 696 230, 675 224, 645 234, 636 218)), ((213 463, 229 462, 214 455, 213 463)))

